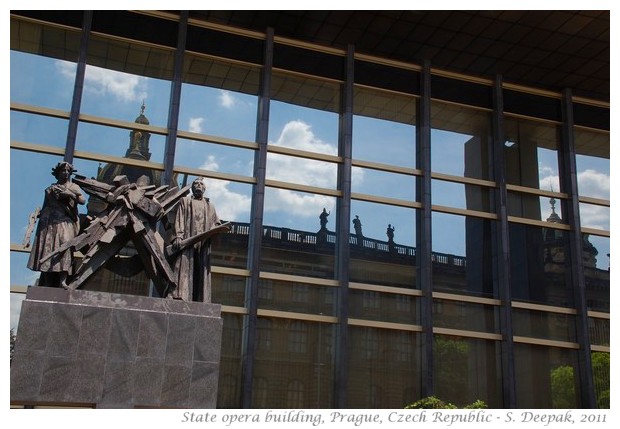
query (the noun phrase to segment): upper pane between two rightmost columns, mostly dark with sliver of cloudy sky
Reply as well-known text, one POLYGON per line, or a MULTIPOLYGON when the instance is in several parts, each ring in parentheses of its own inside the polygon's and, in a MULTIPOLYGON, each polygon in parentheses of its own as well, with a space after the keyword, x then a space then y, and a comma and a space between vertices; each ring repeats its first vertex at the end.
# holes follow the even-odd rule
POLYGON ((525 119, 505 122, 506 181, 545 191, 562 191, 558 183, 559 128, 525 119))

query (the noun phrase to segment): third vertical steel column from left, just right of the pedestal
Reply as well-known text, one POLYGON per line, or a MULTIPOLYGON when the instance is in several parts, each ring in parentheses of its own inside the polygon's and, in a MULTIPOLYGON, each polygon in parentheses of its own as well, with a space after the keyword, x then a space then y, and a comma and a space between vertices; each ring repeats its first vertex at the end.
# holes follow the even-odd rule
POLYGON ((258 322, 258 282, 260 274, 260 252, 263 241, 263 209, 265 204, 265 175, 267 171, 267 139, 269 137, 269 100, 271 97, 271 73, 273 68, 273 28, 267 29, 265 58, 261 76, 260 94, 256 124, 258 150, 254 155, 254 177, 250 214, 250 237, 248 248, 248 269, 250 277, 245 290, 245 307, 248 310, 243 323, 243 345, 241 356, 241 408, 252 406, 252 379, 256 354, 256 327, 258 322))

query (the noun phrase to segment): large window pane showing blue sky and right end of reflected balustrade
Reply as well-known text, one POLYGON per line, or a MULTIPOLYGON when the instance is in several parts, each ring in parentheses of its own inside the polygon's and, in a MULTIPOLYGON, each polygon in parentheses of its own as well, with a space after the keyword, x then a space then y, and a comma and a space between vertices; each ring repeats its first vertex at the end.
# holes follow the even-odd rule
POLYGON ((433 290, 495 295, 492 222, 433 212, 433 290))

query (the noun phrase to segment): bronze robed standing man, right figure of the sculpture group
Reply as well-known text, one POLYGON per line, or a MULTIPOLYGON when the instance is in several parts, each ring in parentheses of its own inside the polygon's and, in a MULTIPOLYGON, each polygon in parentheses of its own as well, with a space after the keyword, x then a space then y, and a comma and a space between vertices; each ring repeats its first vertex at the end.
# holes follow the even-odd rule
POLYGON ((173 225, 172 246, 178 250, 174 264, 177 287, 168 298, 211 302, 211 239, 183 248, 183 241, 221 224, 215 206, 204 196, 201 178, 192 183, 192 195, 179 202, 173 225))

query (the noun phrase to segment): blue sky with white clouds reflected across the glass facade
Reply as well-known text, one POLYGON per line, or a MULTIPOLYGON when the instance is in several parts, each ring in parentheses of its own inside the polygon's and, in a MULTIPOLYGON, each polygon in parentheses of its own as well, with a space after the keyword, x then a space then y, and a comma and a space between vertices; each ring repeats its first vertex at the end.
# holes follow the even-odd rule
MULTIPOLYGON (((11 51, 11 102, 52 107, 68 111, 71 106, 75 65, 11 51)), ((82 100, 82 112, 123 121, 133 121, 142 103, 152 125, 165 127, 170 84, 166 81, 87 67, 82 100)), ((254 141, 256 97, 240 93, 184 85, 182 88, 179 129, 215 136, 254 141)), ((64 147, 67 123, 21 113, 11 113, 11 140, 37 142, 64 147)), ((270 111, 269 143, 295 149, 337 154, 338 116, 333 113, 301 108, 273 101, 270 111)), ((398 166, 413 167, 415 128, 364 117, 354 118, 354 158, 398 166), (378 143, 379 142, 379 143, 378 143)), ((434 159, 433 168, 454 175, 463 175, 463 143, 470 136, 441 131, 433 132, 450 150, 441 154, 441 163, 434 159), (459 152, 460 151, 460 152, 459 152)), ((152 160, 163 161, 164 138, 152 135, 152 160)), ((96 125, 80 124, 77 150, 123 156, 129 143, 129 131, 96 125)), ((211 171, 251 177, 254 155, 251 150, 209 145, 180 140, 175 163, 211 171)), ((28 216, 40 206, 43 190, 53 182, 51 168, 60 159, 48 155, 32 155, 11 151, 11 176, 19 174, 20 181, 11 181, 10 240, 21 243, 28 216), (34 162, 33 162, 34 159, 34 162), (27 172, 27 174, 24 174, 27 172), (20 196, 26 195, 27 198, 20 196)), ((555 153, 539 150, 540 188, 558 190, 558 171, 555 153)), ((267 178, 336 189, 337 168, 329 162, 303 160, 269 154, 267 178)), ((579 188, 582 195, 610 198, 609 161, 579 157, 579 188)), ((75 160, 79 174, 95 176, 97 163, 75 160)), ((353 192, 411 200, 415 198, 414 179, 395 173, 383 173, 355 168, 352 175, 353 192)), ((251 185, 227 180, 208 179, 207 194, 215 202, 221 218, 249 221, 251 185)), ((436 183, 434 204, 465 208, 461 185, 436 183)), ((542 219, 550 207, 541 200, 542 219)), ((319 214, 326 208, 331 212, 328 229, 333 230, 336 219, 336 198, 282 189, 268 188, 265 198, 265 224, 293 229, 318 231, 319 214)), ((85 212, 85 207, 82 207, 85 212)), ((352 202, 352 216, 359 215, 364 235, 386 240, 388 223, 396 227, 395 241, 413 245, 413 210, 383 204, 352 202)), ((441 222, 434 228, 433 246, 438 252, 464 254, 464 218, 436 215, 441 222)), ((609 229, 609 209, 596 206, 582 208, 582 224, 609 229)), ((599 249, 599 264, 607 268, 609 239, 592 237, 599 249)), ((36 278, 25 268, 26 255, 11 255, 11 284, 27 284, 36 278)), ((13 298, 12 298, 13 299, 13 298)), ((13 324, 12 324, 13 326, 13 324)))

